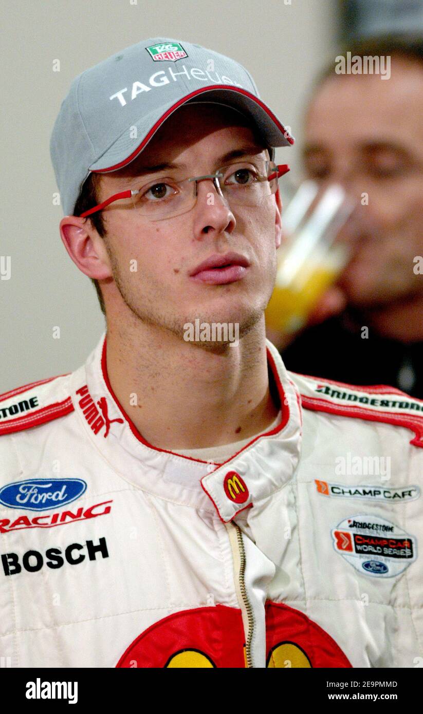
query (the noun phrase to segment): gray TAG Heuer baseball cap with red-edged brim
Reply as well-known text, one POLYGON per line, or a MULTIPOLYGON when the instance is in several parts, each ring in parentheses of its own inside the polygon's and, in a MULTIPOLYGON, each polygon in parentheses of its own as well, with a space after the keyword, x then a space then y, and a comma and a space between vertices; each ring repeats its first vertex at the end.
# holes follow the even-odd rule
POLYGON ((130 164, 189 101, 241 111, 271 147, 294 144, 238 62, 183 40, 143 40, 79 74, 61 103, 50 154, 65 216, 74 212, 91 172, 130 164))

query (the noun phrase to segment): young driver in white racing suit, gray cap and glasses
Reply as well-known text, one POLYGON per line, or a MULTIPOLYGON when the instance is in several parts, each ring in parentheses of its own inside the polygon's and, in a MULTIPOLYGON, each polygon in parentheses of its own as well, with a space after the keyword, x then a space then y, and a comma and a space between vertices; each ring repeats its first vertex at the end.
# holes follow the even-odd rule
POLYGON ((289 143, 247 71, 184 41, 74 81, 61 236, 107 330, 74 373, 0 399, 10 666, 421 661, 423 403, 289 373, 265 340, 289 143))

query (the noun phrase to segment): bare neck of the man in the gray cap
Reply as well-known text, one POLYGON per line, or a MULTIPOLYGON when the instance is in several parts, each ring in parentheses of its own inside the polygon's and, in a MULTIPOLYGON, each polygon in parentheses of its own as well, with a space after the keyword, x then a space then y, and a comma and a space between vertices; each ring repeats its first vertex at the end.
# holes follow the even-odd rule
POLYGON ((280 406, 269 391, 264 319, 237 347, 209 351, 137 321, 108 326, 111 388, 153 446, 222 446, 265 431, 280 406))

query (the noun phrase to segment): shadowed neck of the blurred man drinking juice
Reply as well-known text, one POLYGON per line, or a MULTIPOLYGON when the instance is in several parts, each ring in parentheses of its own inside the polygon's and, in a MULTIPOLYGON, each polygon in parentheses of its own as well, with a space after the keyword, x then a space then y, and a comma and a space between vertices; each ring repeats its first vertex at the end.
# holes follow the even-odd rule
POLYGON ((363 325, 381 336, 404 343, 423 341, 423 295, 362 311, 363 325), (366 321, 367 320, 367 321, 366 321))

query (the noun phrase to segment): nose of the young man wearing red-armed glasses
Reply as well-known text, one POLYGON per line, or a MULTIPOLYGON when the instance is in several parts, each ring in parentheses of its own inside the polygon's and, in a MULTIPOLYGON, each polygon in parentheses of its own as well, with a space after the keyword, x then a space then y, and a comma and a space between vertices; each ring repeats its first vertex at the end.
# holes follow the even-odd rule
POLYGON ((212 178, 204 178, 196 184, 194 233, 197 240, 209 233, 232 233, 237 221, 229 203, 214 185, 212 178))

